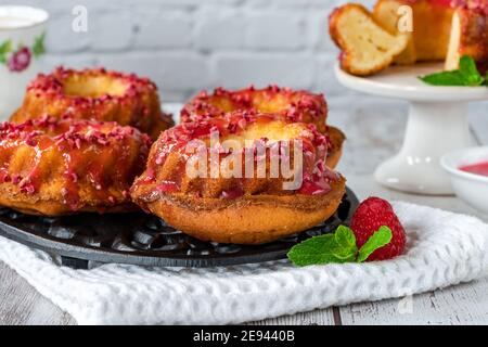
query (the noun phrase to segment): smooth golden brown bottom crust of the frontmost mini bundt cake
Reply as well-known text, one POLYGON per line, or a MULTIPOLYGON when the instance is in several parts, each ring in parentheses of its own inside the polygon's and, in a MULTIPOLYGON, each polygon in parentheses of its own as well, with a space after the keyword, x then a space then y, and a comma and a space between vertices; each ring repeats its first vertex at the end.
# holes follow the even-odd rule
POLYGON ((319 224, 338 208, 345 179, 324 195, 257 195, 233 201, 169 195, 145 204, 151 213, 203 241, 262 244, 319 224))

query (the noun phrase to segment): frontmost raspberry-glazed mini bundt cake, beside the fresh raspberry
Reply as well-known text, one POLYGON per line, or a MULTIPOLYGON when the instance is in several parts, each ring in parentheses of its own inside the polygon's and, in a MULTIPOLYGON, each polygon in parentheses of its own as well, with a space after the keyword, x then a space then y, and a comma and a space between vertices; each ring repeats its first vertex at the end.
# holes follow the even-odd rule
POLYGON ((267 243, 336 211, 345 179, 325 166, 326 152, 313 125, 281 116, 236 112, 183 123, 153 144, 131 196, 197 239, 267 243))

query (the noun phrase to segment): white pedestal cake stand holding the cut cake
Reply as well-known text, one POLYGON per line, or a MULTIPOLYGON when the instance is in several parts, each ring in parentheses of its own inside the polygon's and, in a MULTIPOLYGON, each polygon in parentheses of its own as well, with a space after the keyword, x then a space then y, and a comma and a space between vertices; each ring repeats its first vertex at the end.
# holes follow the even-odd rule
POLYGON ((338 64, 335 75, 344 86, 369 94, 410 102, 407 133, 400 153, 374 174, 388 188, 418 194, 452 194, 440 157, 470 145, 467 102, 488 100, 488 88, 432 87, 418 76, 442 70, 442 64, 394 66, 372 77, 357 77, 338 64))

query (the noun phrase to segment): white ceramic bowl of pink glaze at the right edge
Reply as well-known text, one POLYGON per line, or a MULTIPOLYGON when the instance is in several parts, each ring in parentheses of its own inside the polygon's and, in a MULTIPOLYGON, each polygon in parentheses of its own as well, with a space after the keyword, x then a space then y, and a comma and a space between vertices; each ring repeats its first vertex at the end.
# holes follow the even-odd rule
POLYGON ((455 194, 470 206, 488 214, 488 177, 459 169, 481 162, 488 162, 488 146, 454 151, 440 159, 441 166, 451 177, 455 194))

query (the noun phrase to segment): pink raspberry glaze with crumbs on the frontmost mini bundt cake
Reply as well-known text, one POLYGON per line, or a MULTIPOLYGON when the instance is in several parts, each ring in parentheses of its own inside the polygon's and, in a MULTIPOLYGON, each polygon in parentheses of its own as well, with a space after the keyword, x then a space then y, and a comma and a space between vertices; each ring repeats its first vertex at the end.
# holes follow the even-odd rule
MULTIPOLYGON (((247 129, 252 124, 266 124, 273 120, 283 120, 283 117, 271 114, 257 114, 253 111, 241 111, 226 114, 218 118, 200 118, 197 121, 183 123, 169 130, 163 132, 157 143, 155 151, 147 163, 147 168, 143 178, 137 184, 156 184, 156 190, 164 193, 175 193, 179 191, 180 184, 176 181, 157 181, 158 170, 164 167, 167 158, 171 153, 180 153, 184 160, 188 160, 185 154, 187 145, 192 140, 202 140, 208 143, 211 133, 218 133, 220 139, 227 136, 239 136, 247 129)), ((291 124, 292 121, 286 121, 291 124)), ((331 181, 338 179, 337 174, 329 169, 324 159, 328 153, 329 139, 326 136, 317 131, 314 125, 303 124, 304 131, 299 136, 303 140, 303 157, 304 157, 304 178, 298 193, 300 194, 324 194, 331 190, 331 181)), ((268 145, 268 139, 256 140, 265 147, 268 145)), ((243 151, 253 151, 254 159, 260 160, 255 152, 255 147, 246 147, 243 151)), ((220 147, 205 149, 208 153, 217 151, 220 158, 226 157, 229 152, 220 147)), ((184 163, 180 164, 180 174, 177 177, 184 176, 184 163)), ((227 189, 222 192, 222 198, 236 198, 244 194, 240 187, 227 189)))

